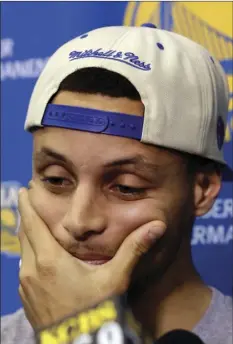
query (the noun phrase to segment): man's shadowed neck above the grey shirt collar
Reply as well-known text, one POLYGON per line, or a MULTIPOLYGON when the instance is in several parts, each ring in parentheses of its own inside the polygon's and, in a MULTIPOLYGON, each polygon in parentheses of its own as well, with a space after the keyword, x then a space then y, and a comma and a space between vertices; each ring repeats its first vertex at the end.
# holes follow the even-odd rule
POLYGON ((194 267, 191 247, 186 242, 159 283, 148 287, 131 306, 136 319, 158 338, 178 328, 191 331, 208 309, 211 296, 194 267))

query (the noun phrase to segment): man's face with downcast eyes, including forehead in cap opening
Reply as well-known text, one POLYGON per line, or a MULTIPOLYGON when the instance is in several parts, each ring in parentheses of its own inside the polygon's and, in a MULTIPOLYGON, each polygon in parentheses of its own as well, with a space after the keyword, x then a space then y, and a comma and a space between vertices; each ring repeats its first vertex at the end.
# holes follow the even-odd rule
MULTIPOLYGON (((143 116, 139 101, 59 93, 55 104, 143 116)), ((33 206, 72 255, 100 264, 139 226, 162 220, 167 230, 135 270, 156 275, 175 259, 190 231, 193 197, 182 158, 133 139, 62 128, 34 134, 33 206), (149 262, 149 264, 148 264, 149 262)))

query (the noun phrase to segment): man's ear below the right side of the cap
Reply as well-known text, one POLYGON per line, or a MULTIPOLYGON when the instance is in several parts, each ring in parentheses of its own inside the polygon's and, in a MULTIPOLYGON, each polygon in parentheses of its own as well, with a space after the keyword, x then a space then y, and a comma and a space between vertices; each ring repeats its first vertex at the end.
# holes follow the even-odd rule
POLYGON ((194 186, 195 215, 203 216, 212 208, 221 189, 221 177, 217 173, 198 173, 194 186))

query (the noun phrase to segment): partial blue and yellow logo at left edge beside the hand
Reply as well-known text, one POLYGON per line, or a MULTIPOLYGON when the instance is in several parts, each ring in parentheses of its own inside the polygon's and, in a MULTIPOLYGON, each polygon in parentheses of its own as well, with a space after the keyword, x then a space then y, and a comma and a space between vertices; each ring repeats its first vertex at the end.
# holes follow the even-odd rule
POLYGON ((18 207, 18 182, 1 183, 1 252, 8 256, 20 255, 20 245, 17 236, 20 215, 18 207))

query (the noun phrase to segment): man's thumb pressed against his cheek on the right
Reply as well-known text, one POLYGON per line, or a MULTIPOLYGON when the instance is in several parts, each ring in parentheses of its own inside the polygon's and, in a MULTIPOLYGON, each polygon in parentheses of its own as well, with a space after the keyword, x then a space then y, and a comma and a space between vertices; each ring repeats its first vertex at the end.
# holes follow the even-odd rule
POLYGON ((165 223, 157 220, 146 223, 132 232, 110 262, 116 278, 123 283, 125 280, 128 281, 140 257, 164 234, 165 230, 165 223))

